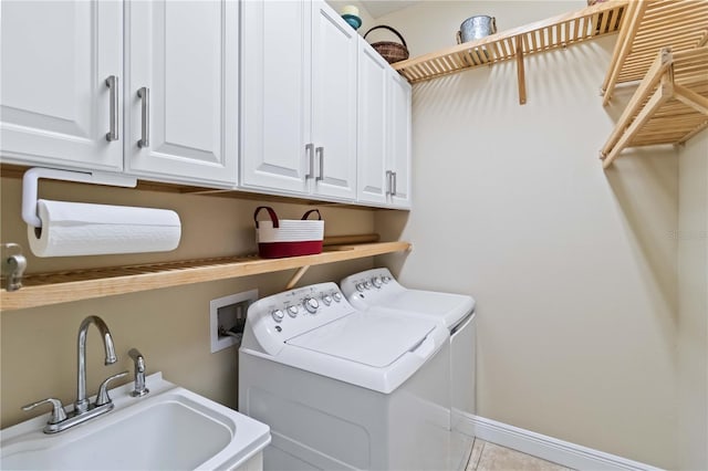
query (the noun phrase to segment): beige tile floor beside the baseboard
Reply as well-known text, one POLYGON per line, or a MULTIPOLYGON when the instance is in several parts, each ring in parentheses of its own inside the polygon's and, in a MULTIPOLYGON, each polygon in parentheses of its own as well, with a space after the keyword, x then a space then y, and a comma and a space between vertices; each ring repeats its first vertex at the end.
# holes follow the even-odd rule
POLYGON ((475 439, 467 471, 572 471, 560 464, 475 439))

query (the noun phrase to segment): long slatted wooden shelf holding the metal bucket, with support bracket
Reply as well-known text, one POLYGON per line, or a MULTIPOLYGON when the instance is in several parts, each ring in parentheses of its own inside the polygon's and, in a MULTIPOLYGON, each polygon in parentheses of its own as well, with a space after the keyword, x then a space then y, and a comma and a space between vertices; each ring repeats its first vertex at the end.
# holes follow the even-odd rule
POLYGON ((392 66, 410 83, 466 71, 481 65, 516 60, 522 103, 523 56, 552 51, 616 33, 623 20, 627 0, 613 0, 561 14, 524 27, 502 31, 478 41, 466 42, 438 52, 397 62, 392 66))

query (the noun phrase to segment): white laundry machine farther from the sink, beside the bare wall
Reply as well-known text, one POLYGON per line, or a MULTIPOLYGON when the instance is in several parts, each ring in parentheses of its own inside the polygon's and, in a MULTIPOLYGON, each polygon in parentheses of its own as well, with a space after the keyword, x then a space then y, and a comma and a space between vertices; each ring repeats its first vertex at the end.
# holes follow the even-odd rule
POLYGON ((353 274, 340 285, 354 307, 430 318, 449 331, 450 464, 452 469, 465 469, 473 440, 465 416, 475 414, 475 300, 461 294, 409 290, 384 268, 353 274))

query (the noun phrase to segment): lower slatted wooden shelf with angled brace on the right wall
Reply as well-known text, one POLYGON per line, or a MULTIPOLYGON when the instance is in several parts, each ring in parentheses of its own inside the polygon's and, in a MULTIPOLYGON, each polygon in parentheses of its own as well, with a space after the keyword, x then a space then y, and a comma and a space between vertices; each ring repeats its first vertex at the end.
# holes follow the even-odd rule
POLYGON ((707 126, 708 46, 663 49, 603 147, 603 167, 626 147, 680 144, 707 126))

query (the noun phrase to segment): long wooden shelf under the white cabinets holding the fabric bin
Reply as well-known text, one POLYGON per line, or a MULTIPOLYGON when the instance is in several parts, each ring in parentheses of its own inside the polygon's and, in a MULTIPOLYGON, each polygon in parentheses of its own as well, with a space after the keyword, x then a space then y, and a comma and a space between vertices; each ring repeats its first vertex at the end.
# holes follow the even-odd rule
POLYGON ((402 252, 410 250, 410 247, 408 242, 362 243, 325 247, 324 252, 316 255, 288 259, 260 259, 251 255, 32 274, 24 276, 23 287, 20 290, 1 291, 0 308, 21 310, 299 269, 289 283, 291 287, 311 265, 402 252))

